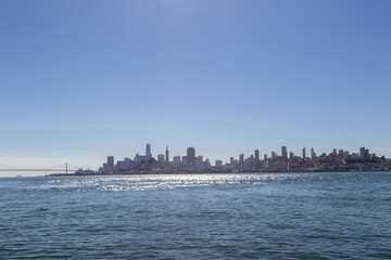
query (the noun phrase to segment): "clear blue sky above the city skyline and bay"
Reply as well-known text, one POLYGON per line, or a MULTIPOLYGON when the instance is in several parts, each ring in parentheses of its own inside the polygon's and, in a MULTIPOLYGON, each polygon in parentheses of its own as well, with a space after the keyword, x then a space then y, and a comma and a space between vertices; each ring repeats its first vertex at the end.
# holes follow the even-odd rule
POLYGON ((0 166, 98 169, 146 143, 211 161, 281 145, 391 157, 390 12, 388 0, 2 0, 0 166))

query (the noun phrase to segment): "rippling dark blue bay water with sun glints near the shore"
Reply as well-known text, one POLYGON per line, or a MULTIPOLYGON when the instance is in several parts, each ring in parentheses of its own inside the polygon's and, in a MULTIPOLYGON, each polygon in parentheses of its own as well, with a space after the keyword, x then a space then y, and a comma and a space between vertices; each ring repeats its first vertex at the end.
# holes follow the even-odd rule
POLYGON ((391 259, 390 173, 0 179, 0 259, 391 259))

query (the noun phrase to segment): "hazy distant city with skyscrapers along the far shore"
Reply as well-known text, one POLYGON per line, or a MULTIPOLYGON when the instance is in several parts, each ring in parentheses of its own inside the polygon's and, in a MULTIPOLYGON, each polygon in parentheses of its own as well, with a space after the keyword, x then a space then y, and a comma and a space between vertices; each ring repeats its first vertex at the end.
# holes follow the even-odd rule
POLYGON ((307 156, 306 148, 302 150, 301 156, 288 153, 287 146, 281 146, 278 155, 260 157, 260 151, 255 150, 252 155, 244 157, 239 154, 237 158, 230 157, 229 162, 223 164, 215 160, 212 164, 202 155, 195 154, 194 147, 188 147, 184 156, 169 156, 168 146, 165 153, 152 156, 151 145, 146 145, 146 154, 136 154, 134 159, 125 157, 115 164, 114 156, 108 156, 108 161, 98 171, 78 169, 72 174, 169 174, 169 173, 229 173, 229 172, 319 172, 319 171, 390 171, 391 160, 384 156, 378 157, 369 153, 368 148, 361 147, 357 153, 349 153, 343 150, 332 150, 331 153, 317 155, 311 148, 307 156))

